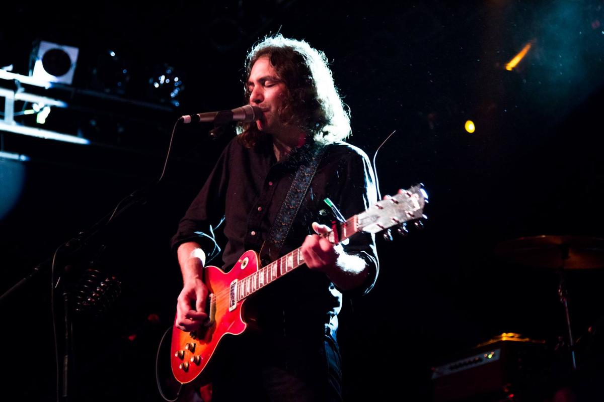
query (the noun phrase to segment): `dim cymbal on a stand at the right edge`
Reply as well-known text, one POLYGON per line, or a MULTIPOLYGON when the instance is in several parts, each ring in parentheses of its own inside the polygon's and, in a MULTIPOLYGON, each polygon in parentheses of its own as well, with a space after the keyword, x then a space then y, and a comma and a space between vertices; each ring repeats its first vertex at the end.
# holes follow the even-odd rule
POLYGON ((520 237, 499 243, 495 253, 514 263, 535 268, 604 268, 604 239, 599 237, 520 237))

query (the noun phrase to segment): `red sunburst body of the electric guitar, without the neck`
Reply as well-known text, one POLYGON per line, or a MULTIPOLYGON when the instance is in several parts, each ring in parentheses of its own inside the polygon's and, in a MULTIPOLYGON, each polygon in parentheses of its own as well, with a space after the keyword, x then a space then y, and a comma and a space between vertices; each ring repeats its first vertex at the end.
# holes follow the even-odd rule
MULTIPOLYGON (((194 332, 172 328, 172 357, 170 365, 178 382, 190 383, 208 366, 223 336, 239 335, 248 326, 243 321, 242 307, 245 300, 230 302, 230 287, 234 281, 241 281, 259 269, 259 256, 255 251, 246 251, 239 258, 233 269, 224 272, 216 266, 204 268, 204 283, 208 287, 210 325, 194 332), (191 347, 191 345, 193 345, 191 347)), ((205 372, 204 372, 205 374, 205 372)), ((208 382, 201 376, 201 383, 208 382)))

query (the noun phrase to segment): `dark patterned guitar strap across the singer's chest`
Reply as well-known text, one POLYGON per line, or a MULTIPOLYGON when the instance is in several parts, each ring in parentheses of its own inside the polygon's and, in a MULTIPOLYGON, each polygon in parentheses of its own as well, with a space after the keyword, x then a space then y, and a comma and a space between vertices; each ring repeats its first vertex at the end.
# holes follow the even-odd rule
POLYGON ((310 188, 310 182, 316 174, 316 168, 321 162, 326 146, 323 144, 314 143, 313 149, 310 150, 311 157, 308 162, 302 162, 292 185, 289 187, 288 194, 285 196, 281 209, 277 213, 275 221, 272 223, 271 230, 265 240, 265 244, 277 253, 280 253, 285 239, 288 237, 289 230, 292 227, 292 222, 300 210, 302 201, 310 188))

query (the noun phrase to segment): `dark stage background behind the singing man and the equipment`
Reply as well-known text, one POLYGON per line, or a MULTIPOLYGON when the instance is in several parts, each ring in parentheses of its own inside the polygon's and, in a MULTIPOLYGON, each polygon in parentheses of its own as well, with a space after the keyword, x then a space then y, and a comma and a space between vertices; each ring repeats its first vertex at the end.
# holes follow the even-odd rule
MULTIPOLYGON (((604 2, 107 2, 3 13, 0 64, 27 75, 36 39, 76 46, 72 87, 123 101, 68 89, 47 95, 71 107, 53 108, 44 128, 80 131, 92 145, 0 133, 4 151, 30 157, 0 159, 0 291, 153 183, 178 116, 243 104, 246 51, 280 32, 326 53, 352 110, 351 143, 372 157, 397 130, 377 156, 382 193, 422 182, 431 198, 425 230, 393 243, 380 237, 376 287, 342 312, 345 397, 431 400, 429 369, 449 356, 504 331, 550 347, 565 333, 556 272, 516 266, 493 251, 522 236, 604 237, 604 2), (129 72, 120 89, 111 84, 115 66, 102 64, 109 49, 129 72), (150 87, 165 65, 184 83, 178 107, 150 87)), ((16 120, 36 126, 34 116, 16 120)), ((169 239, 233 136, 208 139, 210 128, 177 131, 162 184, 74 257, 89 260, 103 244, 95 266, 121 280, 114 307, 76 327, 83 400, 160 400, 155 353, 181 285, 169 239)), ((0 306, 2 389, 28 400, 54 397, 44 267, 0 306)), ((597 269, 568 274, 576 338, 602 316, 602 279, 597 269)), ((592 357, 584 351, 579 362, 592 357)))

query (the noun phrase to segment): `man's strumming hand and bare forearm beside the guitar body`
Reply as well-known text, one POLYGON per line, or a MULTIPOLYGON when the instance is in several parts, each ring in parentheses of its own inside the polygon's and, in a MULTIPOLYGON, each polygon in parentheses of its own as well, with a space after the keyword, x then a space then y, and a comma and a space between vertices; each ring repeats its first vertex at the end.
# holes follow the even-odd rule
POLYGON ((183 331, 194 331, 208 318, 205 312, 208 287, 202 280, 205 253, 195 242, 182 243, 177 253, 184 284, 176 301, 176 327, 183 331))

